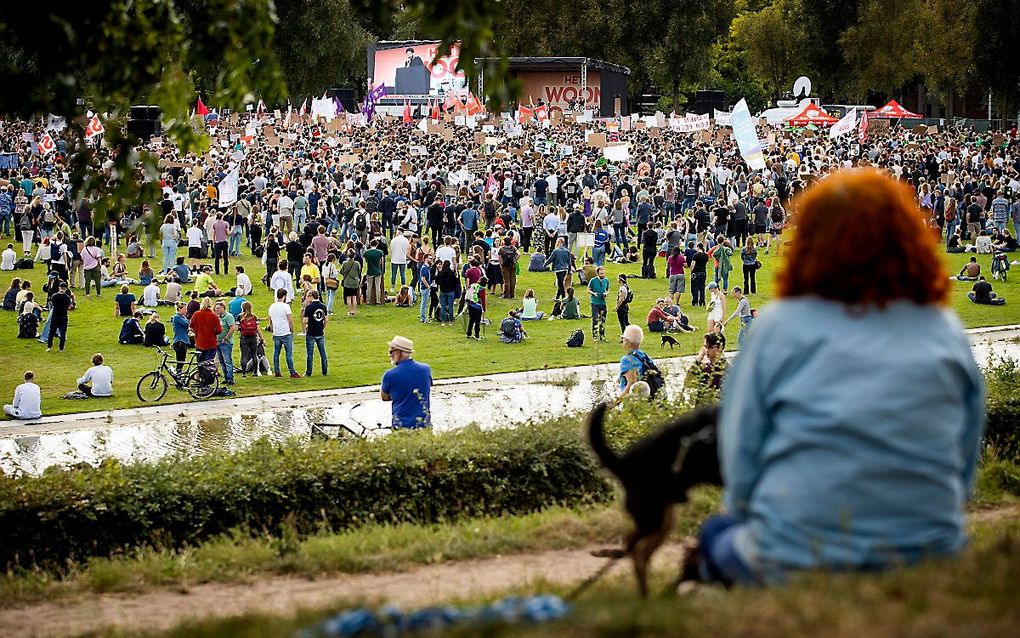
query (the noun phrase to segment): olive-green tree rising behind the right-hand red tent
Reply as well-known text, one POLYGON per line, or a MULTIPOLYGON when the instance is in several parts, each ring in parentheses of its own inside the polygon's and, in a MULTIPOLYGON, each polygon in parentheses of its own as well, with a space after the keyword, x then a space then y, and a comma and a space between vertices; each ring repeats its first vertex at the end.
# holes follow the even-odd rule
POLYGON ((843 93, 862 100, 869 93, 899 91, 917 75, 915 42, 922 0, 863 0, 856 23, 839 38, 850 65, 843 93))

